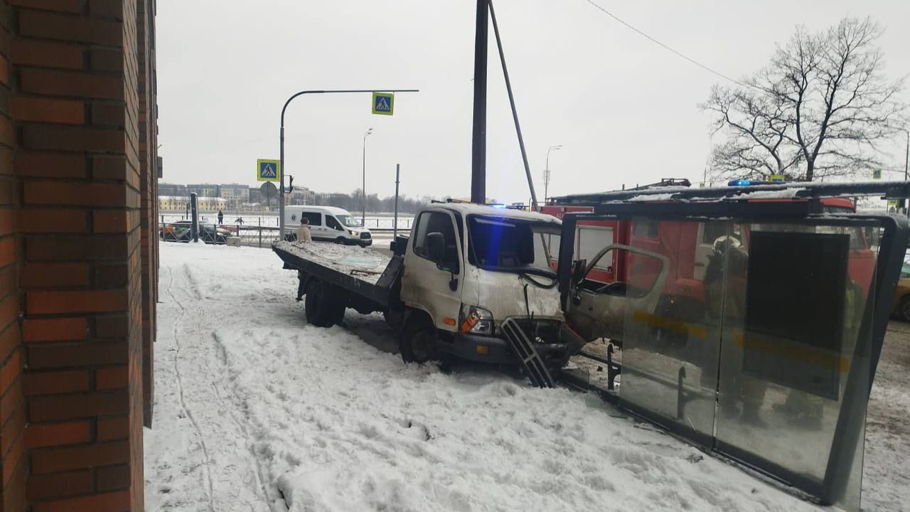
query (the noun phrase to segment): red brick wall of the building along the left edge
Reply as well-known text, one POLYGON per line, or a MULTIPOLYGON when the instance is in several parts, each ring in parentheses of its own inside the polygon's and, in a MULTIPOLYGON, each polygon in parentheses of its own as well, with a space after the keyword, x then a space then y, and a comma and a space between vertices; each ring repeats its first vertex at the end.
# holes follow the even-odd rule
POLYGON ((3 511, 143 509, 154 0, 0 0, 3 511))

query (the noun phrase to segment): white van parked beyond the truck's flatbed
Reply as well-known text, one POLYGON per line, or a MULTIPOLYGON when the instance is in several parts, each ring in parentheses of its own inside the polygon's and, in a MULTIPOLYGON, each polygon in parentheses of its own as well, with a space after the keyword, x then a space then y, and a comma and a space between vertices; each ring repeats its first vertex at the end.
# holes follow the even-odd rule
POLYGON ((360 225, 359 219, 348 210, 334 206, 286 206, 285 233, 294 235, 304 217, 309 220, 314 241, 335 241, 360 247, 373 243, 372 235, 360 225))

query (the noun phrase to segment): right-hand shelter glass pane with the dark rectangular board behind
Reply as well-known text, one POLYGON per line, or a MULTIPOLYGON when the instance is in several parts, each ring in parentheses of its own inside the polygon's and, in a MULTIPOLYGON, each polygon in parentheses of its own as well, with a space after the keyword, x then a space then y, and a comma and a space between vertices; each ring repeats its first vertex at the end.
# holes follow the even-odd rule
POLYGON ((858 510, 875 246, 854 227, 747 231, 749 251, 726 262, 716 445, 810 492, 839 475, 834 504, 858 510), (835 435, 844 416, 858 432, 835 435))

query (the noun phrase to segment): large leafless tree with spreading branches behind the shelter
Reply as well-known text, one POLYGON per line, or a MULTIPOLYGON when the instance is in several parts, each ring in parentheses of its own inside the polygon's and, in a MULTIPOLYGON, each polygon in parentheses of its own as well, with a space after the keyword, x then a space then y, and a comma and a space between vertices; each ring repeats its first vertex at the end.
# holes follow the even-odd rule
POLYGON ((818 34, 797 27, 743 87, 713 87, 702 108, 718 114, 714 129, 727 135, 713 149, 713 174, 812 181, 880 165, 878 145, 905 111, 897 97, 904 80, 883 74, 882 32, 869 18, 844 18, 818 34))

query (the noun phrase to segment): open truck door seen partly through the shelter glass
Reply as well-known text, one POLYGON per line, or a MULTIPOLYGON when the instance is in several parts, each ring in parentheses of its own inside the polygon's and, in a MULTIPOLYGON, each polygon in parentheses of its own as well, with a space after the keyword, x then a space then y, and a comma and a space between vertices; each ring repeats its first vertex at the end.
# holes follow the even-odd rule
POLYGON ((652 251, 622 244, 604 247, 581 270, 583 276, 572 279, 570 301, 566 319, 576 333, 585 341, 597 338, 622 340, 625 328, 626 313, 632 308, 635 312, 652 314, 661 296, 663 282, 666 281, 670 260, 652 251), (614 256, 623 251, 626 255, 614 256), (600 261, 612 261, 615 257, 636 255, 636 258, 652 261, 658 269, 651 282, 611 282, 603 284, 589 279, 591 272, 598 269, 600 261))

